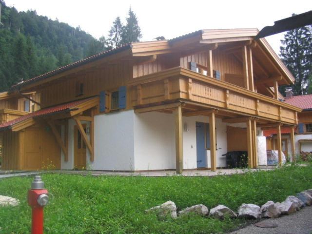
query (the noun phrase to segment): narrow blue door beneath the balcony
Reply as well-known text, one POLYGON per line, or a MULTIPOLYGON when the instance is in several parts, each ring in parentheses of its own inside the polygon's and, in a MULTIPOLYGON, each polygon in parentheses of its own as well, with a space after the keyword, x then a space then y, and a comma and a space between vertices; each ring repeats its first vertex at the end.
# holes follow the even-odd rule
POLYGON ((206 147, 205 147, 205 124, 196 122, 196 154, 197 168, 207 167, 206 147))

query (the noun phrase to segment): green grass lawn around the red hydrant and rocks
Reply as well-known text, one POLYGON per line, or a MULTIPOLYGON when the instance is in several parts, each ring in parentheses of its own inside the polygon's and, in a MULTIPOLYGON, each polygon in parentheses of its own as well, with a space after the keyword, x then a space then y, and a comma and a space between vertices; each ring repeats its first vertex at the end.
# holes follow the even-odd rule
MULTIPOLYGON (((21 201, 18 207, 0 207, 1 234, 29 233, 31 209, 26 196, 32 179, 0 180, 0 194, 21 201)), ((144 210, 167 200, 174 201, 178 210, 202 203, 208 208, 224 204, 234 211, 242 203, 283 201, 312 188, 312 166, 215 177, 44 174, 42 179, 54 195, 45 208, 45 234, 209 234, 229 232, 246 221, 194 215, 158 220, 144 210)))

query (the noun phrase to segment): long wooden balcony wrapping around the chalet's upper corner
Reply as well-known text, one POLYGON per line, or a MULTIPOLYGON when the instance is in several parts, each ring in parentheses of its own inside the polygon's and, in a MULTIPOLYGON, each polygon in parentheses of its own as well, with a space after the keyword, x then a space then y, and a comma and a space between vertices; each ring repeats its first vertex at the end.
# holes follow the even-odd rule
POLYGON ((128 82, 134 108, 184 100, 240 116, 297 124, 300 108, 181 67, 128 82))

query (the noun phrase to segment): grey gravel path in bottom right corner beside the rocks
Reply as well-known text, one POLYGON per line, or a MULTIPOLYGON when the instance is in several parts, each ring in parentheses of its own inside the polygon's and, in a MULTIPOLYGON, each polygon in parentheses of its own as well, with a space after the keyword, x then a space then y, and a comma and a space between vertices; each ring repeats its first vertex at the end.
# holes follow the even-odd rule
POLYGON ((230 234, 312 234, 312 206, 275 219, 264 219, 260 223, 276 224, 277 228, 258 228, 254 224, 230 234))

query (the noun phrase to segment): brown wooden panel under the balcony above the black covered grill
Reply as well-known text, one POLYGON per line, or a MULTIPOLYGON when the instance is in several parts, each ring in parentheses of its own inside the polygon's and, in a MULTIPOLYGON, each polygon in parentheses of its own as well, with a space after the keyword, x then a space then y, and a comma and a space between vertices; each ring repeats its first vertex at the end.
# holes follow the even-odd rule
POLYGON ((227 144, 229 151, 247 151, 247 130, 246 128, 226 127, 227 144))

